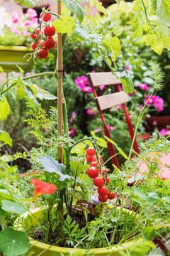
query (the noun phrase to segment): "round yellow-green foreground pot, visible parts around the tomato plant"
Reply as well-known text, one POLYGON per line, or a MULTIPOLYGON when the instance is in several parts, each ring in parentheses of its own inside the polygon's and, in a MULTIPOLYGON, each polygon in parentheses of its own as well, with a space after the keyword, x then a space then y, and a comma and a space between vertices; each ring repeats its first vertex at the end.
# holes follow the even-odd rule
MULTIPOLYGON (((33 227, 33 225, 37 225, 38 218, 42 217, 42 209, 35 208, 31 209, 29 212, 24 213, 20 217, 18 217, 14 223, 14 228, 16 230, 22 230, 24 223, 27 223, 28 228, 30 226, 33 227), (32 214, 31 214, 32 213, 32 214)), ((33 238, 30 239, 30 245, 32 245, 31 250, 34 251, 34 256, 39 255, 42 253, 43 256, 59 256, 62 252, 64 255, 67 254, 67 252, 71 253, 75 252, 75 254, 78 255, 90 255, 93 252, 93 255, 96 256, 120 256, 123 255, 123 252, 127 252, 125 248, 129 249, 132 247, 132 245, 135 245, 136 242, 142 242, 142 238, 135 238, 131 240, 130 242, 123 243, 123 246, 120 245, 114 245, 111 248, 104 247, 104 248, 98 248, 98 249, 91 249, 88 251, 88 254, 86 254, 86 251, 84 249, 72 249, 72 248, 66 248, 66 247, 58 247, 54 245, 47 245, 43 242, 39 242, 38 240, 33 240, 33 238), (77 252, 77 253, 76 253, 77 252)))

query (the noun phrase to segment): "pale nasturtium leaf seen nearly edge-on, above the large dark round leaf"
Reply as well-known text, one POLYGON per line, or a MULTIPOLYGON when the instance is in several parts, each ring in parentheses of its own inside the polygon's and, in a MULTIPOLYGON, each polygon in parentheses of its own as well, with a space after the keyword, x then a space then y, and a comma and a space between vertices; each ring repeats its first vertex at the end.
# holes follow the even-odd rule
POLYGON ((21 206, 19 203, 14 203, 8 200, 3 200, 1 201, 1 203, 2 203, 1 208, 3 210, 6 210, 7 212, 23 214, 26 211, 23 208, 23 206, 21 206))

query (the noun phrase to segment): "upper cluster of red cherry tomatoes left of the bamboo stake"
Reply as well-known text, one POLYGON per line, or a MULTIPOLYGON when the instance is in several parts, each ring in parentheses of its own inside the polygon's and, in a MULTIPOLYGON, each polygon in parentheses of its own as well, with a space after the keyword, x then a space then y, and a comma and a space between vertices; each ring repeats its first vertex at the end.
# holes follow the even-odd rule
MULTIPOLYGON (((48 22, 51 20, 52 16, 51 14, 45 14, 42 11, 40 14, 40 18, 42 21, 48 22)), ((34 42, 32 43, 32 48, 33 50, 36 50, 37 56, 40 59, 45 59, 49 55, 49 49, 55 48, 56 42, 55 39, 52 38, 52 36, 55 35, 55 27, 52 25, 47 25, 45 26, 44 32, 41 31, 40 34, 40 29, 36 29, 34 33, 31 33, 30 36, 33 38, 34 42), (42 42, 40 42, 42 39, 42 42)))

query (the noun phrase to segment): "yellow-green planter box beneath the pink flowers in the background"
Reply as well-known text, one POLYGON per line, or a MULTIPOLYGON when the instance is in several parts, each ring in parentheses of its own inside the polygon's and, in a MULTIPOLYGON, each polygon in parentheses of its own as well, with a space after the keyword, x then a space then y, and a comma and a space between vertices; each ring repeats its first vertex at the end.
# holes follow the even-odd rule
POLYGON ((0 66, 6 73, 11 71, 18 72, 18 65, 24 70, 24 72, 30 72, 33 68, 33 59, 27 61, 27 58, 23 58, 27 53, 31 53, 33 50, 26 46, 0 46, 0 66))

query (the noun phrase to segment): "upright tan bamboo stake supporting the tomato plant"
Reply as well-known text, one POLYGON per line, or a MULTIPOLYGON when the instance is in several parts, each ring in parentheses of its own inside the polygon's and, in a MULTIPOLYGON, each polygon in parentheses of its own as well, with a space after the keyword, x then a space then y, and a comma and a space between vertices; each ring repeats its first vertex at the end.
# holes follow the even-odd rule
MULTIPOLYGON (((57 14, 62 14, 61 1, 57 1, 57 14)), ((57 80, 58 80, 58 93, 57 93, 57 108, 58 108, 58 136, 62 136, 62 34, 57 35, 57 80)), ((58 161, 62 163, 62 146, 58 148, 58 161)))

